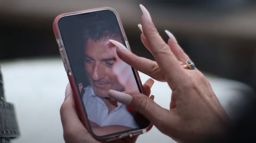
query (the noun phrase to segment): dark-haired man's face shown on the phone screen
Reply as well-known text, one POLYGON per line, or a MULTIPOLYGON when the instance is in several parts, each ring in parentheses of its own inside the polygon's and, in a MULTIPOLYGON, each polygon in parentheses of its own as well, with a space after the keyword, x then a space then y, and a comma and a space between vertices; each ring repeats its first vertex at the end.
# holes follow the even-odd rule
POLYGON ((110 89, 124 90, 112 70, 116 60, 110 51, 109 39, 122 42, 120 37, 103 38, 101 40, 89 39, 84 50, 86 76, 93 87, 94 93, 100 97, 108 97, 110 89))

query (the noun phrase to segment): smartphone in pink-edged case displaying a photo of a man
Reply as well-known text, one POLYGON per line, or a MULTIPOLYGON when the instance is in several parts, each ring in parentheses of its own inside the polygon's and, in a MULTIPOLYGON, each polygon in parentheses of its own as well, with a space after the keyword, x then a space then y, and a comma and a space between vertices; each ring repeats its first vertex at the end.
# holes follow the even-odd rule
POLYGON ((138 71, 120 60, 116 40, 130 50, 117 12, 96 8, 57 16, 53 30, 79 118, 97 140, 148 132, 152 124, 108 96, 110 89, 143 93, 138 71))

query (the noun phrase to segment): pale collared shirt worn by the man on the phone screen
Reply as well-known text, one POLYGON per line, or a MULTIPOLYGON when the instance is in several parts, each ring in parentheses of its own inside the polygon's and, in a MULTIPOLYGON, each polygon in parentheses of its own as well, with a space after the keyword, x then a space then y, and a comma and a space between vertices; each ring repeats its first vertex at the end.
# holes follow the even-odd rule
POLYGON ((138 128, 133 116, 126 106, 117 102, 117 107, 108 114, 108 107, 102 98, 95 95, 91 86, 85 87, 83 103, 87 116, 99 126, 121 125, 130 128, 138 128))

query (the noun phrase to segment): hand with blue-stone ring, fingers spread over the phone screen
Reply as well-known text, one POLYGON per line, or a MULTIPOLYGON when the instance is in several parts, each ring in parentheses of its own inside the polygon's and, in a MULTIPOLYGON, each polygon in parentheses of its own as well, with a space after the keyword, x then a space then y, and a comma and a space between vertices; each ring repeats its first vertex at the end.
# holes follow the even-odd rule
MULTIPOLYGON (((211 85, 198 70, 184 69, 189 57, 175 38, 166 44, 155 28, 149 12, 140 5, 142 15, 141 40, 153 54, 155 61, 134 55, 123 45, 113 42, 119 49, 117 55, 135 69, 159 81, 166 81, 172 90, 170 109, 164 109, 153 100, 137 92, 120 93, 110 90, 109 96, 131 106, 149 119, 163 134, 179 142, 203 142, 221 137, 230 120, 214 94, 211 85)), ((199 53, 200 54, 200 53, 199 53)), ((212 140, 211 140, 212 141, 212 140)))

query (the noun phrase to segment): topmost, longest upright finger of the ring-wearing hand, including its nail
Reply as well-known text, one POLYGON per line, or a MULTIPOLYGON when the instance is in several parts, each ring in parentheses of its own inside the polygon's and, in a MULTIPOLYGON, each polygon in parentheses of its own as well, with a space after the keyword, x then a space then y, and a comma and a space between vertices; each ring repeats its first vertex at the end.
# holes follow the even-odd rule
POLYGON ((179 61, 170 50, 170 47, 160 37, 157 29, 155 28, 150 14, 146 8, 140 5, 143 12, 142 15, 142 29, 150 46, 151 52, 155 57, 156 62, 164 73, 168 84, 172 88, 179 82, 179 77, 184 69, 180 66, 179 61))

